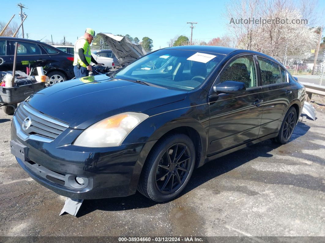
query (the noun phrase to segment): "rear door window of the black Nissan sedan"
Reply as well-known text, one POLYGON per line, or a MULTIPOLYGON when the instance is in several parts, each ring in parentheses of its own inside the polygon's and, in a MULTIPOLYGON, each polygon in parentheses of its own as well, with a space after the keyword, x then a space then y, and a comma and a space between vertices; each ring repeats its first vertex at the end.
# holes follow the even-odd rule
POLYGON ((257 57, 261 69, 262 85, 282 83, 280 67, 275 62, 263 57, 257 57))

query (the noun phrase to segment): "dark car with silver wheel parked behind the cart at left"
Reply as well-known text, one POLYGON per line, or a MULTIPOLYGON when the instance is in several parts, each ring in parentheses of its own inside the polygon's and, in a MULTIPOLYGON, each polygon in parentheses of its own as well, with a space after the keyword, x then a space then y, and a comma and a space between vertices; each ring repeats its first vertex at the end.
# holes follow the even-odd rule
MULTIPOLYGON (((50 84, 74 77, 73 55, 46 43, 29 39, 0 37, 0 71, 12 70, 14 43, 18 42, 16 70, 26 72, 26 67, 43 67, 50 84)), ((33 73, 37 75, 37 72, 33 73)))

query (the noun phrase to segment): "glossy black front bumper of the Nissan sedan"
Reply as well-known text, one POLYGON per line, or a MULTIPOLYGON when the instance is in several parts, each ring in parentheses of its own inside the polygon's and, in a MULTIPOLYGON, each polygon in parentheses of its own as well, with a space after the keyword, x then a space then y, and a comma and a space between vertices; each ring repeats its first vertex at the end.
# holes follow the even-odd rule
POLYGON ((23 141, 12 123, 11 139, 28 147, 26 161, 16 159, 35 181, 62 196, 99 199, 134 194, 144 160, 155 141, 110 148, 72 145, 81 132, 67 128, 50 143, 23 141), (75 176, 85 178, 85 186, 74 188, 75 176))

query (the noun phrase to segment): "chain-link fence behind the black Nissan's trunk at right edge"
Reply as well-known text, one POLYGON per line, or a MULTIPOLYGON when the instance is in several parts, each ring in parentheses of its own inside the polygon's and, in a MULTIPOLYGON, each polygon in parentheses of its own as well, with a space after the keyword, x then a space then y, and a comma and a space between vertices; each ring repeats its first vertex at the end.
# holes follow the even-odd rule
POLYGON ((323 54, 318 54, 317 58, 314 56, 273 56, 299 81, 320 85, 325 85, 324 57, 323 54))

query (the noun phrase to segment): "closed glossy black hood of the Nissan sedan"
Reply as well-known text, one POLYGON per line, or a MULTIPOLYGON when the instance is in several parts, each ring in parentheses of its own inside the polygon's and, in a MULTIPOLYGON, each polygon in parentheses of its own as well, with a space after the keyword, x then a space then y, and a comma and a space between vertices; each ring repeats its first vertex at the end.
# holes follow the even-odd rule
POLYGON ((71 128, 85 129, 112 115, 143 112, 183 100, 186 95, 185 91, 96 75, 49 86, 31 95, 26 102, 71 128))

